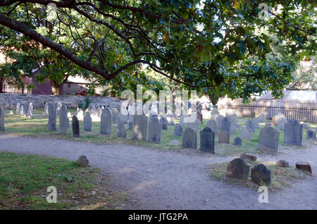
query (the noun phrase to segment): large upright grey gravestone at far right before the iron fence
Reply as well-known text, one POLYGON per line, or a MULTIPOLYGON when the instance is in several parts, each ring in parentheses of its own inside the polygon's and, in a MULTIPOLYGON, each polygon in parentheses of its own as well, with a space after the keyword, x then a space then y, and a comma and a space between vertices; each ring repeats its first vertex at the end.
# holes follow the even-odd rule
POLYGON ((284 143, 302 145, 303 127, 298 120, 292 118, 284 125, 284 143))

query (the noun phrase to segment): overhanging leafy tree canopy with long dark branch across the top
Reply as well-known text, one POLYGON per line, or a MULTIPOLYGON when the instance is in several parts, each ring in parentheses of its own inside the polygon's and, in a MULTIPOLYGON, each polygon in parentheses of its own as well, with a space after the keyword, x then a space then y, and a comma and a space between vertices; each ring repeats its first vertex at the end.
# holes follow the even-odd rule
POLYGON ((261 20, 261 1, 254 0, 6 0, 0 3, 0 24, 49 47, 105 82, 134 80, 135 69, 144 63, 215 101, 223 94, 247 100, 265 90, 278 97, 291 81, 292 66, 278 61, 271 36, 283 43, 283 55, 295 61, 315 54, 316 49, 313 1, 266 2, 271 18, 261 20), (58 23, 52 29, 58 38, 41 33, 42 25, 34 30, 30 23, 37 19, 35 15, 19 17, 20 11, 47 4, 56 6, 58 23), (260 28, 269 35, 256 32, 260 28), (268 60, 270 57, 276 60, 268 60))

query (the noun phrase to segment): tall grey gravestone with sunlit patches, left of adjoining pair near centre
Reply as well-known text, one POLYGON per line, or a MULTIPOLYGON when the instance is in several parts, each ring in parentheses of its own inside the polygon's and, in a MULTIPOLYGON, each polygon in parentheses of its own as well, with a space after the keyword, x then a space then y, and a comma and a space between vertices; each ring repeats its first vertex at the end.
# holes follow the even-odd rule
POLYGON ((132 125, 132 140, 147 140, 147 116, 135 115, 132 125))

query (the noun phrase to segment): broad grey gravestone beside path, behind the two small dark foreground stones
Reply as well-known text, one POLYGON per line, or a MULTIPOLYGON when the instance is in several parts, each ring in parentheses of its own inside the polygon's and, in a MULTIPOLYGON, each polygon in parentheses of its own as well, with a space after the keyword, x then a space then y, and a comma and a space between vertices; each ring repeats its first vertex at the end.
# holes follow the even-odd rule
POLYGON ((260 130, 259 147, 261 151, 277 152, 280 132, 274 127, 263 127, 260 130))

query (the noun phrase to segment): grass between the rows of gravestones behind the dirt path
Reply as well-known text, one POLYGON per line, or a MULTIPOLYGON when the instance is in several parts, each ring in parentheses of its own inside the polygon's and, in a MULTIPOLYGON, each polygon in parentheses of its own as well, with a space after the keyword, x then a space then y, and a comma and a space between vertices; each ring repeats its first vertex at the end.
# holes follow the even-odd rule
MULTIPOLYGON (((75 109, 70 109, 68 112, 75 114, 75 109)), ((70 128, 68 129, 68 135, 61 135, 56 132, 49 132, 47 130, 47 116, 42 116, 43 110, 34 110, 33 118, 26 118, 21 117, 16 114, 10 115, 8 111, 6 111, 6 125, 5 125, 5 132, 7 134, 14 134, 14 135, 25 135, 25 136, 32 136, 32 137, 54 137, 57 139, 69 139, 73 141, 81 141, 81 142, 92 142, 94 144, 132 144, 136 146, 142 147, 149 147, 151 149, 161 149, 161 150, 173 150, 173 151, 185 151, 185 152, 198 152, 199 151, 199 137, 197 139, 197 150, 194 149, 182 149, 182 137, 174 136, 174 126, 168 126, 168 130, 163 130, 162 133, 162 141, 161 144, 154 144, 151 142, 141 142, 141 141, 134 141, 131 140, 132 132, 128 130, 128 125, 125 127, 128 130, 128 139, 118 138, 116 136, 116 124, 113 124, 112 135, 100 135, 100 123, 94 122, 92 123, 92 132, 86 132, 83 130, 83 122, 80 121, 80 138, 74 138, 72 136, 72 129, 71 129, 71 120, 70 120, 70 128), (170 147, 169 144, 172 140, 177 139, 180 142, 178 147, 170 147)), ((242 119, 240 121, 241 127, 245 125, 247 122, 247 118, 242 119)), ((206 123, 208 120, 204 120, 203 125, 200 126, 200 130, 206 127, 206 123)), ((175 123, 179 123, 179 120, 175 120, 175 123)), ((57 130, 59 120, 57 118, 57 130)), ((260 128, 264 127, 264 123, 260 123, 260 128)), ((311 124, 311 127, 315 128, 316 124, 311 124)), ((199 133, 200 135, 200 133, 199 133)), ((215 138, 216 146, 215 151, 217 156, 234 156, 240 154, 242 152, 245 153, 254 153, 254 154, 261 154, 261 151, 256 150, 259 144, 259 130, 253 134, 251 140, 242 139, 242 147, 235 147, 233 146, 233 139, 235 137, 240 137, 240 128, 237 128, 237 133, 231 135, 230 142, 231 144, 218 144, 218 136, 215 138)), ((303 139, 306 140, 306 130, 303 130, 303 139)), ((280 145, 287 146, 283 144, 284 141, 284 132, 280 131, 280 145)), ((305 149, 305 147, 294 147, 296 149, 305 149)), ((205 153, 204 154, 209 154, 205 153)))

